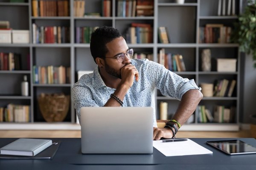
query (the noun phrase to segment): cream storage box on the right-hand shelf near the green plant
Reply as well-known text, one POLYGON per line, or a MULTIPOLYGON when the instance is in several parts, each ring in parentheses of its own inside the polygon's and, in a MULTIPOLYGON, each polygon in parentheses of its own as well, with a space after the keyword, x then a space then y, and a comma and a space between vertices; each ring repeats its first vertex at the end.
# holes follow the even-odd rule
POLYGON ((236 72, 235 58, 218 58, 217 72, 236 72))

